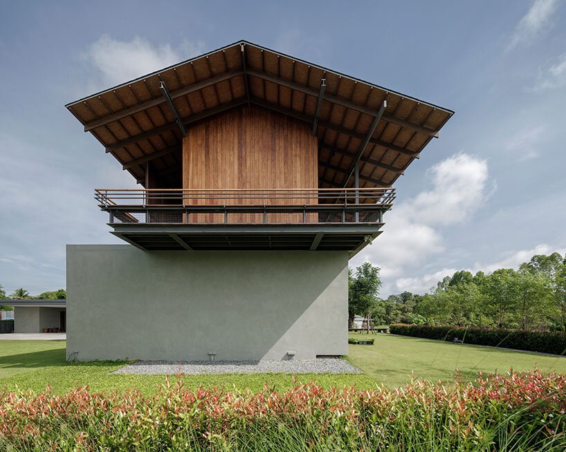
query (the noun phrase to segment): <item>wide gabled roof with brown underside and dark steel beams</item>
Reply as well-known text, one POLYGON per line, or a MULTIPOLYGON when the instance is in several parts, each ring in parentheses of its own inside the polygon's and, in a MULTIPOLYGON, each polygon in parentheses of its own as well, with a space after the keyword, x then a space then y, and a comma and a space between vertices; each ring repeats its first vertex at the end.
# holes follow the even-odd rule
POLYGON ((151 161, 180 186, 174 178, 180 173, 183 128, 246 104, 311 124, 320 144, 320 187, 352 187, 360 152, 360 187, 389 187, 454 113, 248 41, 66 108, 138 180, 151 161))

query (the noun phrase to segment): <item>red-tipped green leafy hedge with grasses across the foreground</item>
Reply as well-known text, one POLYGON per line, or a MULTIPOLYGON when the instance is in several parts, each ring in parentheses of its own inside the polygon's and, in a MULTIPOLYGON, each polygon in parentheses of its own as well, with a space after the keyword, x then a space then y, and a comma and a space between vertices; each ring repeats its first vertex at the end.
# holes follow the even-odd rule
POLYGON ((0 446, 13 451, 356 450, 566 448, 566 377, 480 376, 473 384, 279 393, 183 387, 153 397, 90 393, 0 395, 0 446))

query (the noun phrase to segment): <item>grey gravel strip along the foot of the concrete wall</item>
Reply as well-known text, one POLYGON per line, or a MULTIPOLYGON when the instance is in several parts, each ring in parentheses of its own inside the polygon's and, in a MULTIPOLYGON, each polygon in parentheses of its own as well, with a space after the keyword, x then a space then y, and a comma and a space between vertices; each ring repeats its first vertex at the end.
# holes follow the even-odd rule
POLYGON ((136 375, 219 375, 223 373, 362 373, 345 359, 319 358, 293 361, 137 361, 114 370, 113 374, 136 375))

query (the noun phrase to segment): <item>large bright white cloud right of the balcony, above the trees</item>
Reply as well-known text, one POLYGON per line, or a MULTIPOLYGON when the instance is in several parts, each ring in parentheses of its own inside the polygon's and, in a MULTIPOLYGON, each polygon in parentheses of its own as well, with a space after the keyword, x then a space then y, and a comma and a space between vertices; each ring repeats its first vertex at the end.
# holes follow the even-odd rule
POLYGON ((392 279, 443 252, 437 227, 462 222, 482 206, 489 196, 488 174, 486 160, 466 153, 435 164, 427 171, 432 188, 396 205, 385 217, 383 236, 354 261, 370 261, 381 267, 383 279, 392 279))

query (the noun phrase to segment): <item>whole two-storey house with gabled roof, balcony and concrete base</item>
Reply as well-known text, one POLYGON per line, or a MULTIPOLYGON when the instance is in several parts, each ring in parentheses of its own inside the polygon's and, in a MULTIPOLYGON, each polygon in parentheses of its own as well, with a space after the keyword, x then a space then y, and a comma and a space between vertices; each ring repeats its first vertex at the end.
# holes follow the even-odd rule
POLYGON ((453 114, 246 41, 66 107, 141 185, 67 247, 79 360, 346 355, 348 259, 453 114))

